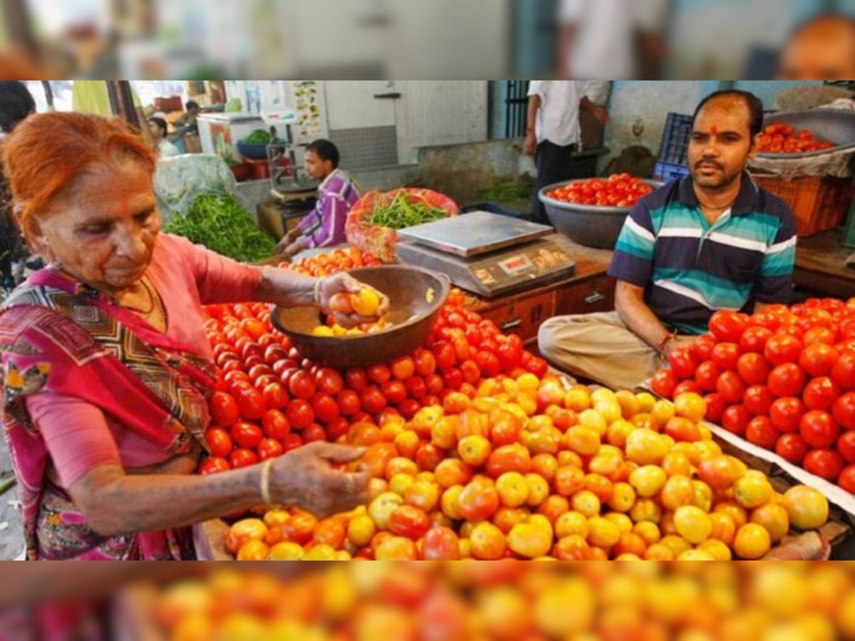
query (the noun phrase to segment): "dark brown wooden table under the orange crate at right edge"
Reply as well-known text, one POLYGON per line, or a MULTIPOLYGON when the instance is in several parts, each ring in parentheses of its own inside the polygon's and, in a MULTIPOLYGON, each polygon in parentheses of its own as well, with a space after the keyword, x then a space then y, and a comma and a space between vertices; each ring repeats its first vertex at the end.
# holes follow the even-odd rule
POLYGON ((855 269, 846 267, 846 258, 855 250, 840 244, 843 232, 833 229, 809 238, 799 238, 796 247, 796 285, 825 297, 855 296, 855 269))

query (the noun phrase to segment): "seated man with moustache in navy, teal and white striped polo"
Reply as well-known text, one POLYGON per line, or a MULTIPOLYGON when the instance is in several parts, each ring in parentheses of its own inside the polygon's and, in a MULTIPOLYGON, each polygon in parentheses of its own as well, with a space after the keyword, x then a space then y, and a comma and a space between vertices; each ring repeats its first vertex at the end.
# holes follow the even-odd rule
POLYGON ((745 171, 763 103, 745 91, 718 91, 699 104, 693 123, 690 176, 637 203, 617 241, 609 269, 616 312, 540 327, 540 352, 557 367, 633 388, 676 346, 706 332, 716 310, 788 303, 793 214, 745 171))

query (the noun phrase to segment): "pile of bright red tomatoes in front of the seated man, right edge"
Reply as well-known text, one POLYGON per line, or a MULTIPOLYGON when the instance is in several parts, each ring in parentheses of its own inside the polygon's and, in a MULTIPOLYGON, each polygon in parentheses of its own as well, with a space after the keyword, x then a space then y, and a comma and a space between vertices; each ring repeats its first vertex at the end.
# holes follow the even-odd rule
POLYGON ((653 391, 705 394, 706 420, 855 493, 855 298, 719 311, 653 391))

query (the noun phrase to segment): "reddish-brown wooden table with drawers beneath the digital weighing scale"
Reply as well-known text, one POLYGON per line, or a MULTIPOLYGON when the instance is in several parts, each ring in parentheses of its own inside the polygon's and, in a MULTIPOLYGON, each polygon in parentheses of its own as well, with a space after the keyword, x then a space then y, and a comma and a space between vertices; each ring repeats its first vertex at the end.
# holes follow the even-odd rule
POLYGON ((519 334, 531 348, 537 342, 540 324, 552 316, 589 314, 615 308, 616 280, 607 275, 610 250, 595 250, 571 242, 563 236, 552 236, 559 246, 573 256, 575 273, 534 289, 483 298, 469 294, 469 307, 493 321, 503 332, 519 334))

